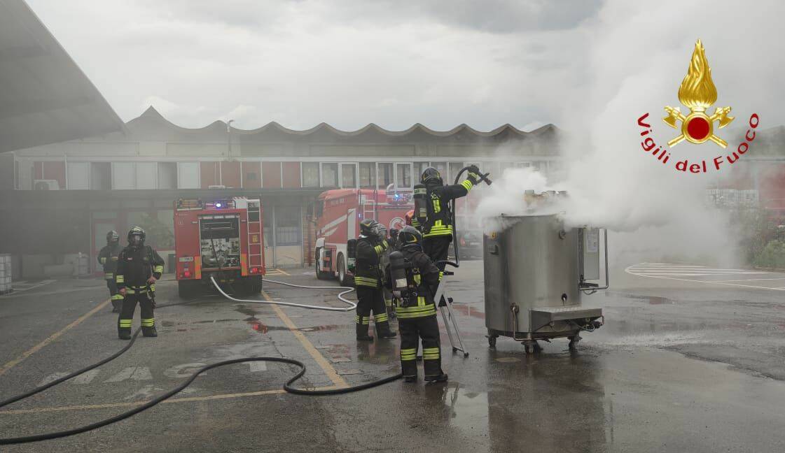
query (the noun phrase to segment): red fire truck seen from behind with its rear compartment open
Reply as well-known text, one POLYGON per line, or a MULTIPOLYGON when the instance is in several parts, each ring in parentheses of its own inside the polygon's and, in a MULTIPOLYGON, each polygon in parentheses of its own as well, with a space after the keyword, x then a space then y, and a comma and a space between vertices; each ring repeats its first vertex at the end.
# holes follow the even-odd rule
POLYGON ((235 292, 260 292, 265 275, 263 224, 258 199, 177 200, 174 248, 180 296, 192 297, 211 276, 235 292))

